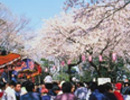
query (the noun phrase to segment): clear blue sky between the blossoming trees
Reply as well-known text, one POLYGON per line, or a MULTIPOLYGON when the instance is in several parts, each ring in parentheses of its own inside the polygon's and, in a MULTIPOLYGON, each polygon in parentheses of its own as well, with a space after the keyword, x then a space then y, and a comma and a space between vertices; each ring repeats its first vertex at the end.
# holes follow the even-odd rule
POLYGON ((1 0, 14 14, 26 16, 34 29, 40 28, 42 19, 52 18, 63 11, 65 0, 1 0))

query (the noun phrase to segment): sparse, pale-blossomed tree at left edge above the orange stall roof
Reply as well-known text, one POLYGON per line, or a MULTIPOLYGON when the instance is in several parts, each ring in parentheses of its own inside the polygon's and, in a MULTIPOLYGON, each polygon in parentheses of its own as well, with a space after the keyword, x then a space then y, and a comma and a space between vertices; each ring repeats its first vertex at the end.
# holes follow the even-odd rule
POLYGON ((0 47, 18 53, 24 47, 21 33, 25 32, 28 20, 23 16, 14 16, 3 4, 0 7, 0 47))

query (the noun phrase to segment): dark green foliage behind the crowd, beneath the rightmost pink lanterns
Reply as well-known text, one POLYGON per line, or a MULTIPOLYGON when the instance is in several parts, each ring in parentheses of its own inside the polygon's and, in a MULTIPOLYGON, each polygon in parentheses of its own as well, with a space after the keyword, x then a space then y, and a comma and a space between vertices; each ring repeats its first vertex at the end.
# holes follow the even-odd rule
POLYGON ((101 76, 99 76, 95 70, 93 76, 97 75, 95 76, 96 78, 110 77, 113 81, 121 81, 124 75, 129 75, 129 72, 127 72, 128 70, 126 70, 126 63, 121 57, 118 57, 115 62, 107 57, 104 57, 104 59, 103 62, 99 62, 98 57, 93 60, 93 63, 97 66, 101 74, 101 76))

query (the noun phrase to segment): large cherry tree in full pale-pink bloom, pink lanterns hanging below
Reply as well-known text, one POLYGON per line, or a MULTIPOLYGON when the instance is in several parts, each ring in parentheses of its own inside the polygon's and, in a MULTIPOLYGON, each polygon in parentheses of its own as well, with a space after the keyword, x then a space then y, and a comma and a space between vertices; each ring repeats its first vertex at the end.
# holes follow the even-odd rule
POLYGON ((109 2, 100 6, 93 5, 80 17, 77 14, 81 12, 81 8, 76 14, 63 14, 47 20, 41 30, 43 38, 39 44, 40 48, 46 56, 54 56, 66 63, 68 60, 78 61, 68 66, 81 63, 83 54, 93 58, 103 56, 103 61, 107 61, 106 65, 102 62, 96 65, 94 61, 90 61, 91 66, 100 77, 103 76, 103 68, 107 69, 108 74, 112 73, 115 69, 112 60, 114 52, 125 63, 130 56, 129 3, 124 3, 123 6, 120 3, 115 5, 113 2, 114 7, 110 6, 109 2))

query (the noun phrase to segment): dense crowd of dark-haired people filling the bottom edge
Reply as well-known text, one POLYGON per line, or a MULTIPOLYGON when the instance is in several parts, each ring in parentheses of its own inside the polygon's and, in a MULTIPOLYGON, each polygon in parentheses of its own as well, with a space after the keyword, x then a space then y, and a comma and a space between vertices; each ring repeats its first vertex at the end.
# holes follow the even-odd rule
POLYGON ((1 81, 0 100, 130 100, 130 84, 59 82, 48 75, 41 84, 1 81))

